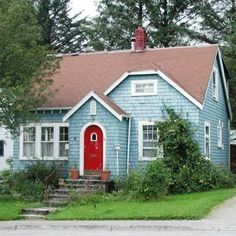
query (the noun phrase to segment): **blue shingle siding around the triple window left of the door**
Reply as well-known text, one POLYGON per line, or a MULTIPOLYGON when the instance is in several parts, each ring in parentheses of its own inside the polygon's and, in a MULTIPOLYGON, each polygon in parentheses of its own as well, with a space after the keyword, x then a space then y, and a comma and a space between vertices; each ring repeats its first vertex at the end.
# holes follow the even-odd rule
MULTIPOLYGON (((39 120, 41 123, 61 123, 63 122, 63 116, 67 113, 67 110, 56 110, 56 111, 39 111, 39 120)), ((32 160, 19 160, 20 155, 20 145, 19 145, 19 138, 15 138, 14 146, 13 146, 13 170, 22 170, 27 165, 31 164, 32 160)), ((52 161, 48 161, 50 163, 52 161)), ((67 162, 65 161, 65 169, 67 166, 67 162)))

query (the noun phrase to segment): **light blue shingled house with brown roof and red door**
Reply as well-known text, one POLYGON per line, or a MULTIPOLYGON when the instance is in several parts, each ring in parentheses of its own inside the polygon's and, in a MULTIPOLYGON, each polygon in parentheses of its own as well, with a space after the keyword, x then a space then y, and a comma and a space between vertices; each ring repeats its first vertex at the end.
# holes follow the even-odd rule
POLYGON ((14 143, 14 169, 34 159, 76 165, 80 174, 125 176, 156 158, 154 122, 174 108, 196 129, 202 154, 229 165, 231 109, 218 45, 64 55, 58 93, 14 143))

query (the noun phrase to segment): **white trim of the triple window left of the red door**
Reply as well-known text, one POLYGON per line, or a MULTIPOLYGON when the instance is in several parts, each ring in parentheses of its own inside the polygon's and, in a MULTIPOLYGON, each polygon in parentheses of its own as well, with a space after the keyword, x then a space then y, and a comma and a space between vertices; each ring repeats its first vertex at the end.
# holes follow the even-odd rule
POLYGON ((69 127, 69 123, 37 123, 29 124, 26 127, 36 128, 35 137, 35 156, 25 157, 23 156, 23 131, 24 127, 21 127, 20 134, 20 160, 68 160, 68 157, 59 157, 59 138, 60 138, 60 127, 69 127), (53 127, 54 128, 54 138, 53 138, 53 157, 43 157, 41 155, 41 128, 42 127, 53 127))

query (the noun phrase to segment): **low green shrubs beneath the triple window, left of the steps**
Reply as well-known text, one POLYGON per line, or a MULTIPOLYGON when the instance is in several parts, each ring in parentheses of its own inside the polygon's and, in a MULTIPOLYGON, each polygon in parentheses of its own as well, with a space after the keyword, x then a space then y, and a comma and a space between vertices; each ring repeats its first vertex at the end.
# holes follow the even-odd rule
POLYGON ((44 161, 37 161, 24 170, 12 173, 4 172, 2 179, 4 186, 0 188, 0 194, 19 195, 28 201, 43 200, 45 190, 45 179, 54 172, 49 180, 49 189, 58 184, 58 178, 62 175, 60 163, 48 164, 44 161), (54 170, 56 170, 54 172, 54 170))

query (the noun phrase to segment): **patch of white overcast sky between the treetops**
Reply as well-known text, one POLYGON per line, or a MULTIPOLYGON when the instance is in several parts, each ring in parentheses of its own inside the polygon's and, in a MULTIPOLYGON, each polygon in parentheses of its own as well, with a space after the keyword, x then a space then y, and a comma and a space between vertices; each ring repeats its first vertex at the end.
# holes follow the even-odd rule
POLYGON ((94 16, 96 15, 97 0, 71 0, 71 14, 74 15, 83 11, 82 16, 94 16))

